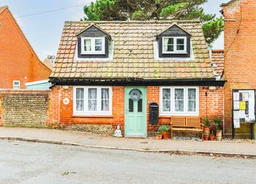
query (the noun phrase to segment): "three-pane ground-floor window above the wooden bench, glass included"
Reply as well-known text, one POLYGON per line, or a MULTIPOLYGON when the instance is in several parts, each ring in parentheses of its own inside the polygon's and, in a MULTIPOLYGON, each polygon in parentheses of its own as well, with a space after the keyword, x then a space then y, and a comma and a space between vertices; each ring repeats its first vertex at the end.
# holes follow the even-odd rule
POLYGON ((199 115, 199 87, 160 87, 160 115, 199 115))

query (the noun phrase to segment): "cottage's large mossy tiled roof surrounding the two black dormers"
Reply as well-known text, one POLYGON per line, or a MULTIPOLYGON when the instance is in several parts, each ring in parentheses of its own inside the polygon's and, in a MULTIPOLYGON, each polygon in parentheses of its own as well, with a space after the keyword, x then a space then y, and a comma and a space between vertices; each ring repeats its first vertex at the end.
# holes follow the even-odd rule
POLYGON ((155 36, 172 25, 171 21, 94 22, 114 40, 111 61, 76 61, 77 33, 92 22, 65 22, 56 63, 50 76, 56 79, 213 79, 208 48, 197 21, 176 21, 192 34, 193 61, 154 59, 155 36))

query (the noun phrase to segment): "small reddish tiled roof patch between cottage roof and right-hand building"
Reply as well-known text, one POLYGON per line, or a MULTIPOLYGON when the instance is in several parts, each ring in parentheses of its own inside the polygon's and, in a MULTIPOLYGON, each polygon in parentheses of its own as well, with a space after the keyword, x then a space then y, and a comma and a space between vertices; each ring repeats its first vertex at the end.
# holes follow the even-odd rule
POLYGON ((213 69, 216 74, 223 76, 224 71, 224 51, 223 50, 212 50, 212 62, 213 69))

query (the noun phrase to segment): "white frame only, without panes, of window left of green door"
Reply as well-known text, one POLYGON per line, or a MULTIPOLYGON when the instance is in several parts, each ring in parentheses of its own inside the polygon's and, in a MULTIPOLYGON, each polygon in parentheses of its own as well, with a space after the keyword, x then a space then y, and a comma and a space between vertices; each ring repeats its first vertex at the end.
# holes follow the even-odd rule
POLYGON ((73 87, 73 115, 112 115, 112 87, 108 86, 76 86, 73 87), (76 89, 84 89, 84 110, 77 111, 76 109, 76 89), (97 89, 97 111, 88 111, 88 89, 96 88, 97 89), (101 89, 109 89, 109 111, 101 111, 101 89))

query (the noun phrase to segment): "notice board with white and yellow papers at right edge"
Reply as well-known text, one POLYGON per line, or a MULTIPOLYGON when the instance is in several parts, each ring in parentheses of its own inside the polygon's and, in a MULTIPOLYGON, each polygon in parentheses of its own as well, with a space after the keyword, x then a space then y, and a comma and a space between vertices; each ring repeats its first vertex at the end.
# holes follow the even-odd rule
POLYGON ((240 128, 240 123, 255 123, 255 90, 233 90, 233 125, 240 128))

